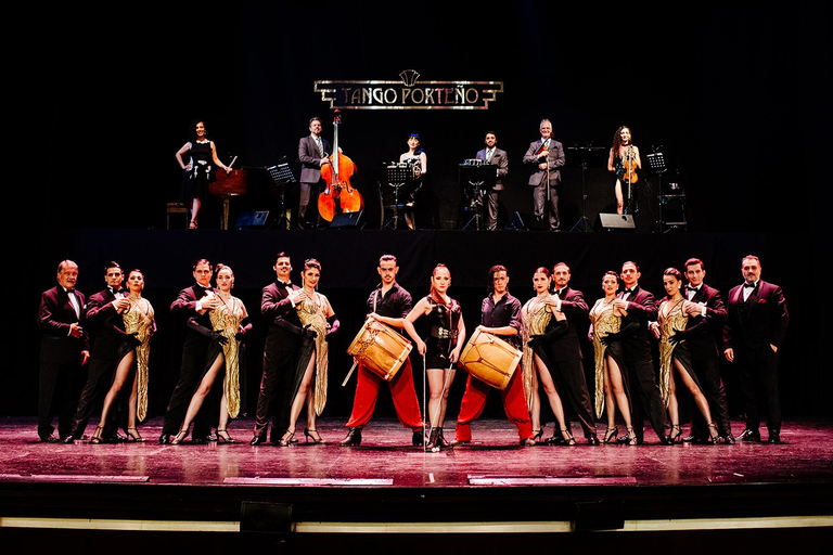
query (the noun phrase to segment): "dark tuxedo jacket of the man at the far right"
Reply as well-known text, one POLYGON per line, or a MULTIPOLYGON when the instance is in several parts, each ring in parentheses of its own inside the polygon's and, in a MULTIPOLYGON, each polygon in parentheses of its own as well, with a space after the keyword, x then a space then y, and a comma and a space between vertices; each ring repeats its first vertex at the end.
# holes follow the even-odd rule
POLYGON ((781 287, 760 280, 744 302, 743 285, 738 285, 729 292, 727 301, 729 321, 723 330, 723 348, 756 349, 767 345, 781 348, 790 323, 781 287))

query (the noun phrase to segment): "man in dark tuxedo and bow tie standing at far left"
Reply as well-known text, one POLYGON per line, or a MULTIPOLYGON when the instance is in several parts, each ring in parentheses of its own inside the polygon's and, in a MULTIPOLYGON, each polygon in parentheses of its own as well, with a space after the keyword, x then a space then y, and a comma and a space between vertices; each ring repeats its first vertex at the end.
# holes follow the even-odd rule
POLYGON ((41 441, 57 442, 71 437, 82 366, 90 359, 85 330, 87 298, 75 289, 77 281, 78 264, 63 260, 57 264, 57 285, 40 296, 38 436, 41 441), (55 414, 57 437, 52 434, 55 414))

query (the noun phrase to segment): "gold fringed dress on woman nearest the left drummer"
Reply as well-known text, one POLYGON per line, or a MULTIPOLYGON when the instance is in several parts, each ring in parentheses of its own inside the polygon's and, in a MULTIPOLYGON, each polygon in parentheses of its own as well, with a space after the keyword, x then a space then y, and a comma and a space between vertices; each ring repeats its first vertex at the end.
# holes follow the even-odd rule
MULTIPOLYGON (((298 366, 295 375, 295 390, 292 395, 293 402, 298 393, 300 382, 304 379, 304 373, 309 365, 310 358, 316 358, 315 374, 315 409, 316 414, 321 415, 326 404, 326 367, 328 367, 328 343, 326 343, 326 312, 330 304, 326 297, 317 294, 317 300, 304 299, 295 309, 298 311, 298 319, 302 325, 309 326, 316 331, 316 337, 305 337, 300 346, 298 356, 298 366)), ((292 402, 290 403, 292 404, 292 402)))

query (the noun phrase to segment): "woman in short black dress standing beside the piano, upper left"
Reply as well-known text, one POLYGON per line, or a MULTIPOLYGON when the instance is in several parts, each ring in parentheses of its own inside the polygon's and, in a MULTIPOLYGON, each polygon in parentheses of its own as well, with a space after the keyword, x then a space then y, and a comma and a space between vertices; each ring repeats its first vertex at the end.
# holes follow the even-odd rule
POLYGON ((205 135, 205 121, 194 121, 189 134, 191 138, 177 151, 176 157, 179 166, 185 171, 182 196, 185 204, 191 204, 191 222, 188 228, 195 230, 203 198, 208 194, 208 183, 214 183, 216 179, 215 168, 222 168, 227 173, 231 172, 231 168, 217 157, 214 141, 209 141, 205 135), (185 154, 189 154, 188 162, 183 159, 185 154))

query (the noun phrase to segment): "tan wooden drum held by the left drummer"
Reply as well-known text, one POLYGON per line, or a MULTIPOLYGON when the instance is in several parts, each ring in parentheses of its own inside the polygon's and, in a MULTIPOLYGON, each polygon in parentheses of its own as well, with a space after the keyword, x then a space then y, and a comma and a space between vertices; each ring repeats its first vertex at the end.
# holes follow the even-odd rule
POLYGON ((347 354, 379 377, 390 382, 411 353, 411 343, 385 324, 368 320, 347 348, 347 354))

